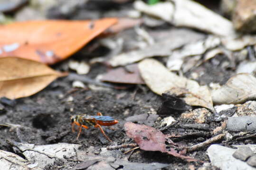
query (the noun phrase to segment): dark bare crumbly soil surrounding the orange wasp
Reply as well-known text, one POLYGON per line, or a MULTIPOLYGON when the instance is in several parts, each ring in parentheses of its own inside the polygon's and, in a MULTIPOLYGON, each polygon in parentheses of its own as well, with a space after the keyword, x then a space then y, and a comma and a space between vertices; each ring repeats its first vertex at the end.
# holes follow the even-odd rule
MULTIPOLYGON (((56 65, 61 68, 62 63, 56 65)), ((96 64, 87 75, 94 78, 95 75, 103 73, 105 66, 96 64)), ((216 77, 217 78, 217 77, 216 77)), ((98 111, 104 115, 112 116, 120 123, 114 125, 114 129, 104 128, 106 134, 113 140, 114 144, 131 143, 132 139, 126 136, 123 124, 125 119, 143 113, 157 112, 161 108, 163 99, 152 93, 145 85, 127 86, 127 89, 116 90, 104 88, 99 90, 75 89, 68 78, 59 78, 51 83, 46 89, 31 97, 21 98, 15 101, 6 102, 6 113, 1 114, 0 120, 3 123, 20 125, 16 129, 0 127, 0 148, 9 152, 14 152, 11 141, 29 144, 81 144, 81 151, 86 151, 90 146, 97 149, 113 145, 109 143, 100 131, 96 128, 83 130, 79 140, 76 140, 77 133, 71 132, 70 117, 76 114, 95 115, 98 111), (120 95, 122 96, 120 98, 120 95), (68 101, 72 97, 73 101, 68 101)), ((179 119, 180 111, 169 110, 169 114, 179 119)), ((161 118, 167 115, 161 115, 161 118)), ((191 121, 180 119, 180 124, 191 121), (182 122, 183 121, 183 122, 182 122)), ((153 127, 159 127, 160 121, 156 121, 153 127)), ((210 124, 211 129, 218 127, 218 122, 210 124)), ((191 130, 181 128, 179 124, 162 131, 164 134, 174 132, 176 134, 190 134, 198 132, 200 135, 191 135, 182 139, 174 139, 174 142, 185 141, 188 145, 205 141, 212 136, 209 130, 191 130)), ((197 134, 198 134, 197 133, 197 134)), ((188 155, 203 161, 209 161, 206 149, 189 153, 188 155)), ((184 170, 191 164, 196 168, 202 166, 200 162, 187 162, 171 155, 136 150, 129 158, 131 162, 161 162, 170 163, 168 170, 184 170)), ((46 170, 61 170, 59 165, 66 167, 74 166, 78 162, 60 161, 47 165, 46 170)), ((213 168, 214 169, 214 168, 213 168)))

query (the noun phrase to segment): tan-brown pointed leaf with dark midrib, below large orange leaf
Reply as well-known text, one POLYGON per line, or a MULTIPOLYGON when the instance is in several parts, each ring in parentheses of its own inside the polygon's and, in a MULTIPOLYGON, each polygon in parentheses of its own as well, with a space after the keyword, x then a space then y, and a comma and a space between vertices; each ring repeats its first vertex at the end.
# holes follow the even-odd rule
POLYGON ((35 94, 63 74, 46 65, 15 57, 0 58, 0 97, 17 99, 35 94))

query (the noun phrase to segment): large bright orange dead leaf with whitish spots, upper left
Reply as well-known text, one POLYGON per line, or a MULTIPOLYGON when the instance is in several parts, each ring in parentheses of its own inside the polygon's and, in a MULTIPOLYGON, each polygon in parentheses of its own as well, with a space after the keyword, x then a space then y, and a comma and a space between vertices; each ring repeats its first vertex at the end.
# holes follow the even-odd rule
POLYGON ((45 20, 0 26, 0 57, 20 57, 54 64, 66 59, 117 22, 45 20))

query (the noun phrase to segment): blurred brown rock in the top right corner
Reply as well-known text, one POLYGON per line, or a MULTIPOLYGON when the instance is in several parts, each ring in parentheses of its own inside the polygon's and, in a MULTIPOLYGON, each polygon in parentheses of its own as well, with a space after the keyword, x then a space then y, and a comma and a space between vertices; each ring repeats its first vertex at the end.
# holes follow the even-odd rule
POLYGON ((256 31, 256 1, 237 0, 237 6, 233 12, 232 22, 238 31, 256 31))

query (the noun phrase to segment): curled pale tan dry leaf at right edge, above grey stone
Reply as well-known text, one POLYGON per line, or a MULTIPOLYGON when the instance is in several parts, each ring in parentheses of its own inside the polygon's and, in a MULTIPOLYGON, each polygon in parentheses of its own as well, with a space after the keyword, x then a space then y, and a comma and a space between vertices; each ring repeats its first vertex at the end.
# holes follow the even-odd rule
POLYGON ((237 104, 256 99, 256 78, 247 73, 232 76, 228 82, 211 92, 216 104, 237 104))

